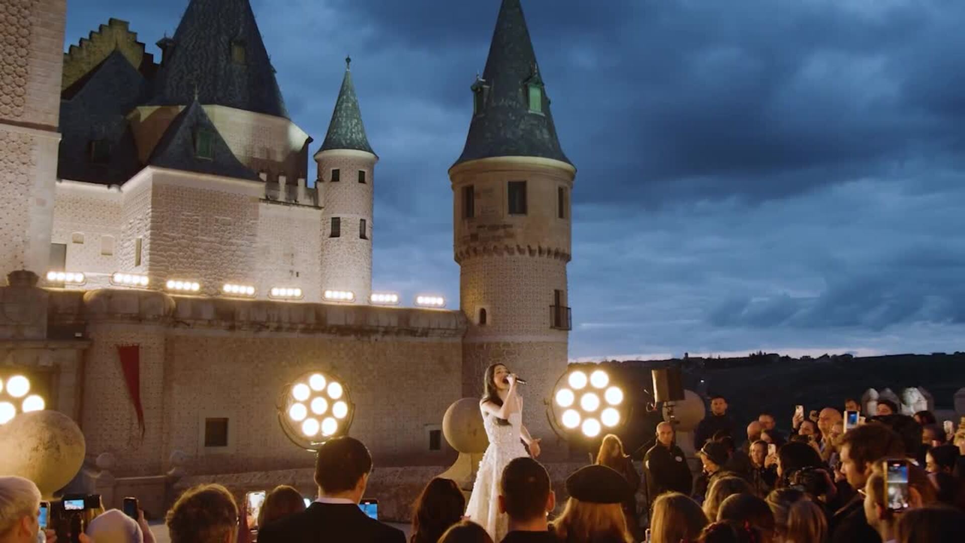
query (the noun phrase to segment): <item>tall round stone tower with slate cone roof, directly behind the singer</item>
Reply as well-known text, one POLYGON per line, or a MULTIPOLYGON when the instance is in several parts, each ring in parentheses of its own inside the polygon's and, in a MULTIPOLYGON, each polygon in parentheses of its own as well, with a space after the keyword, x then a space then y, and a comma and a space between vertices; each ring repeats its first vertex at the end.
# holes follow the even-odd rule
POLYGON ((524 423, 550 443, 543 400, 565 371, 569 194, 576 168, 557 139, 519 0, 503 0, 453 183, 459 295, 470 326, 463 395, 493 362, 529 381, 524 423))

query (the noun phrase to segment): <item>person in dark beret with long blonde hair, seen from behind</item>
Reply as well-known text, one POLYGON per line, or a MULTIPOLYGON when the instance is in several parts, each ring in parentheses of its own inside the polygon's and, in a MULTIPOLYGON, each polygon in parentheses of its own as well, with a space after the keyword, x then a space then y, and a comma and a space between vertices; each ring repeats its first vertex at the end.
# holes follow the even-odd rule
POLYGON ((626 479, 606 466, 586 466, 566 478, 569 500, 553 522, 565 543, 632 543, 622 503, 630 492, 626 479))

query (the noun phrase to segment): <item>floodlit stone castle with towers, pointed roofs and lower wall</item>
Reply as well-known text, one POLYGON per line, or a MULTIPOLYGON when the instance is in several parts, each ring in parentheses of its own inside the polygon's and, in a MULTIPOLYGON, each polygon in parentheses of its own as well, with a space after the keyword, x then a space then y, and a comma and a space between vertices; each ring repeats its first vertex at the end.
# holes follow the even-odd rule
POLYGON ((350 60, 315 147, 248 0, 190 0, 157 62, 117 19, 64 53, 65 0, 3 10, 0 380, 27 376, 76 420, 91 462, 107 453, 142 486, 175 464, 311 465, 277 398, 324 371, 380 465, 445 465, 442 414, 497 361, 529 380, 527 424, 552 456, 576 170, 519 0, 502 2, 449 171, 459 310, 372 292, 378 156, 350 60))

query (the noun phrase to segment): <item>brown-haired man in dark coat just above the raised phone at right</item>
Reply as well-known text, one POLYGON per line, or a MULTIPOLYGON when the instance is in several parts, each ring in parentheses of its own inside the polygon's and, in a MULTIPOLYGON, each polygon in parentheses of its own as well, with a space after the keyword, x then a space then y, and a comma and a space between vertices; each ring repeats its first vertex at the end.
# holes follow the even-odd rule
MULTIPOLYGON (((870 422, 849 430, 841 437, 841 472, 851 488, 865 488, 875 462, 904 458, 905 447, 894 430, 870 422)), ((880 543, 865 517, 864 499, 858 495, 844 504, 831 519, 832 543, 880 543)))

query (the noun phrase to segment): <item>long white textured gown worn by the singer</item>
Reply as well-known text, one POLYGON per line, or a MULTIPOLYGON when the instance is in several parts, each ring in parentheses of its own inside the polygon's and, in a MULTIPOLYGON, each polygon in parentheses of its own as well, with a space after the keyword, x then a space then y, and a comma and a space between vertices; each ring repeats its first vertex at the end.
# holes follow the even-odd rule
POLYGON ((483 414, 483 426, 485 435, 489 438, 489 446, 480 461, 476 482, 473 483, 473 493, 466 505, 466 516, 489 532, 493 541, 503 540, 509 522, 505 514, 500 514, 497 504, 499 478, 513 458, 529 456, 520 441, 519 429, 523 425, 523 414, 510 414, 509 421, 509 425, 500 425, 496 423, 493 415, 483 414))

